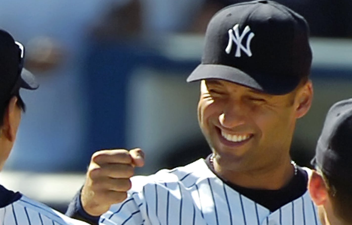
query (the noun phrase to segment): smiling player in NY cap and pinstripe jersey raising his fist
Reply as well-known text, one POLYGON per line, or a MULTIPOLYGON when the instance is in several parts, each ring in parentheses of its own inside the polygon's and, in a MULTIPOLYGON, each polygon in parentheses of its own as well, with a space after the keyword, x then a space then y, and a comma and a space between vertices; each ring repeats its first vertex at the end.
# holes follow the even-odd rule
POLYGON ((97 152, 69 214, 109 209, 100 217, 107 225, 319 224, 310 171, 289 155, 296 120, 312 102, 308 36, 306 21, 276 2, 216 13, 202 62, 187 79, 200 81, 198 120, 213 153, 129 179, 143 165, 140 150, 97 152))

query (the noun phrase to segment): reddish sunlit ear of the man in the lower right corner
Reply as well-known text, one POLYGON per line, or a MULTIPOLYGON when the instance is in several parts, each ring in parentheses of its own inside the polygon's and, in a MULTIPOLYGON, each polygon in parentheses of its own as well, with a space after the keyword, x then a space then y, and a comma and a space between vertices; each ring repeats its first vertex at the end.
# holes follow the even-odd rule
POLYGON ((324 205, 328 200, 328 191, 321 175, 313 171, 308 182, 308 191, 315 205, 324 205))

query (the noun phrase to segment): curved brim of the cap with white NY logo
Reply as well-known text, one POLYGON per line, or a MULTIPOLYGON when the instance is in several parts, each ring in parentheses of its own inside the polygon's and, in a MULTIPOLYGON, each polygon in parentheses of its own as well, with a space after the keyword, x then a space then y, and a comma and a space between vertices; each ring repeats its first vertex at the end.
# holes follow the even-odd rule
POLYGON ((292 77, 285 80, 281 76, 252 74, 234 68, 232 66, 219 64, 200 64, 189 75, 187 82, 199 81, 202 79, 222 79, 249 88, 256 89, 270 95, 284 95, 293 91, 299 83, 299 79, 292 77), (253 77, 256 77, 254 79, 253 77))

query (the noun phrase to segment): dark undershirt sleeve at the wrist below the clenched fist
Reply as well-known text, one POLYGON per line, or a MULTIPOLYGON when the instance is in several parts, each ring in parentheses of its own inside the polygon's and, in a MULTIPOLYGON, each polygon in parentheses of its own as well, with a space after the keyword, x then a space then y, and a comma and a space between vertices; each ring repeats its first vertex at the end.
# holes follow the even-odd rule
POLYGON ((92 225, 98 225, 100 217, 90 216, 82 207, 81 189, 76 193, 75 197, 70 202, 65 215, 74 219, 85 221, 92 225))

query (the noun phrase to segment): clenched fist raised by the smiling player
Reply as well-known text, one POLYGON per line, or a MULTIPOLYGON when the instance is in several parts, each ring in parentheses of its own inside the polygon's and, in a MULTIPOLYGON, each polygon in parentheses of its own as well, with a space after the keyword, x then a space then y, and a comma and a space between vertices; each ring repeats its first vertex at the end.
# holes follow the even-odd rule
POLYGON ((139 148, 95 152, 81 191, 83 209, 92 216, 100 216, 112 204, 125 200, 131 188, 134 167, 143 165, 144 153, 139 148))

